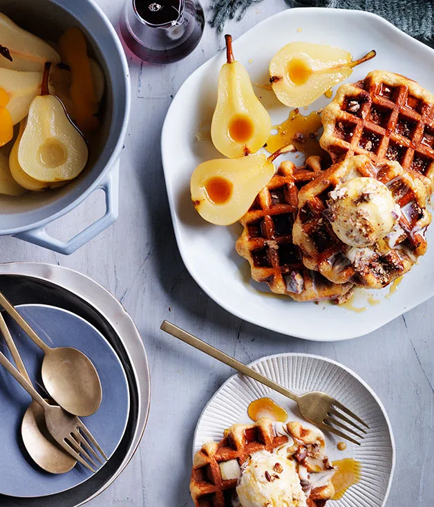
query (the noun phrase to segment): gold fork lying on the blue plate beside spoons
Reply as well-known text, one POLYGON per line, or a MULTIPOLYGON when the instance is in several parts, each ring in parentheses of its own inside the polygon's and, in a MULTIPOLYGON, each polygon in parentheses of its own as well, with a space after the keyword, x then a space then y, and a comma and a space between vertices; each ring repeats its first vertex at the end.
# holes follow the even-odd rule
MULTIPOLYGON (((0 314, 0 330, 5 336, 6 343, 8 347, 11 349, 12 357, 15 362, 19 366, 22 371, 26 371, 26 368, 23 365, 21 360, 21 356, 19 356, 19 352, 17 347, 10 336, 9 330, 6 326, 6 323, 3 320, 3 316, 0 314)), ((82 463, 86 468, 91 470, 91 472, 95 472, 95 469, 99 467, 97 463, 93 460, 93 458, 89 454, 93 454, 93 457, 97 459, 100 464, 104 464, 105 461, 108 460, 102 448, 94 439, 93 435, 86 426, 80 421, 77 416, 73 416, 68 414, 62 407, 57 405, 50 405, 49 403, 42 398, 42 396, 35 390, 32 384, 29 382, 30 379, 21 375, 21 373, 12 365, 12 363, 6 358, 6 356, 0 351, 0 364, 6 368, 6 370, 19 382, 21 387, 26 389, 28 394, 32 396, 32 398, 41 405, 42 409, 44 409, 45 422, 47 426, 48 432, 53 436, 53 439, 66 451, 70 456, 74 459, 82 463), (86 439, 84 436, 86 436, 86 439), (101 456, 104 458, 104 461, 98 456, 98 454, 93 449, 92 445, 96 448, 98 452, 100 452, 101 456), (87 451, 87 452, 86 452, 87 451), (84 458, 87 461, 85 461, 84 458), (91 465, 93 465, 93 468, 91 465)), ((26 372, 27 376, 27 372, 26 372)))

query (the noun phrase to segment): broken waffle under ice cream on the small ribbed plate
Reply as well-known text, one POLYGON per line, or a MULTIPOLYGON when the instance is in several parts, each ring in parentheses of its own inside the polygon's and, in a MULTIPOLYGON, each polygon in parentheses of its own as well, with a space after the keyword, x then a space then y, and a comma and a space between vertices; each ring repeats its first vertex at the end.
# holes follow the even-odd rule
MULTIPOLYGON (((194 505, 196 507, 239 506, 236 495, 238 477, 223 479, 220 469, 222 463, 236 460, 236 468, 240 470, 241 465, 254 452, 267 450, 278 452, 283 456, 285 452, 289 452, 292 457, 295 457, 299 466, 305 463, 306 454, 310 454, 312 450, 318 452, 319 448, 323 449, 322 443, 317 443, 317 441, 315 443, 304 442, 303 439, 296 441, 296 433, 292 433, 294 427, 291 425, 295 425, 295 430, 300 427, 303 436, 310 434, 310 430, 305 430, 299 423, 288 423, 287 430, 277 434, 274 432, 274 423, 268 418, 261 418, 252 425, 232 425, 220 442, 205 443, 200 451, 196 452, 191 470, 190 492, 194 505), (292 442, 288 434, 294 435, 292 442)), ((325 463, 323 468, 332 468, 328 460, 325 458, 323 461, 323 458, 321 454, 321 463, 325 463)), ((306 465, 307 470, 310 470, 308 463, 306 465)), ((307 500, 308 507, 323 507, 325 502, 333 496, 334 490, 328 483, 327 486, 309 490, 308 494, 310 495, 307 500)))

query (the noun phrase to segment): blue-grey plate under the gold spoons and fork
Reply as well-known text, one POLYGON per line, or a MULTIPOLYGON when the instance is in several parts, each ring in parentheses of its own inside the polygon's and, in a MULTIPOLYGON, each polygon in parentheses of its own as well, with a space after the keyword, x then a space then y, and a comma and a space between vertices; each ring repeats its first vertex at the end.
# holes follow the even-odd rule
MULTIPOLYGON (((95 414, 83 417, 82 421, 110 459, 124 436, 129 415, 129 387, 122 362, 100 331, 82 317, 63 308, 40 304, 17 308, 50 347, 76 347, 93 361, 102 385, 102 402, 95 414), (108 419, 110 425, 106 425, 108 419)), ((39 394, 46 397, 40 387, 43 385, 40 371, 44 353, 9 315, 5 315, 5 320, 33 385, 39 386, 39 394)), ((14 364, 3 340, 0 349, 14 364)), ((0 405, 3 406, 0 412, 3 436, 0 453, 8 456, 7 461, 0 463, 0 493, 14 497, 55 495, 92 477, 92 472, 78 463, 70 472, 59 475, 48 474, 35 465, 23 448, 20 433, 23 413, 30 401, 30 396, 12 376, 0 369, 0 405)))

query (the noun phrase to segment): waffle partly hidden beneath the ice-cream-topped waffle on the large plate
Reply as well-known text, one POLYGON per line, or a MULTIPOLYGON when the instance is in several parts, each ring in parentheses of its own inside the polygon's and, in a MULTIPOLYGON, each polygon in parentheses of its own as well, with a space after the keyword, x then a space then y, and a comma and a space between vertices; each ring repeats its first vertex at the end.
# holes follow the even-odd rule
POLYGON ((285 160, 252 208, 240 220, 243 234, 236 251, 249 261, 252 278, 266 282, 277 294, 296 301, 340 299, 352 284, 332 284, 303 266, 301 252, 292 242, 299 189, 321 174, 321 158, 310 156, 304 167, 285 160))

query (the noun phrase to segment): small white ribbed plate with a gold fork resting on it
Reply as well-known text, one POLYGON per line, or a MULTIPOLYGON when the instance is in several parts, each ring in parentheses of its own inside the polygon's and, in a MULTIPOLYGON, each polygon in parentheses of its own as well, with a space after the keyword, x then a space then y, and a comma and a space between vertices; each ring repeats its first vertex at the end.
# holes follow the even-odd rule
MULTIPOLYGON (((362 445, 347 442, 344 452, 337 450, 339 437, 325 434, 326 454, 331 461, 354 457, 361 462, 361 481, 352 486, 336 507, 380 507, 386 504, 395 470, 395 442, 386 411, 374 391, 353 371, 320 356, 283 353, 258 359, 250 365, 275 382, 301 394, 321 390, 334 396, 359 415, 370 430, 362 445)), ((303 420, 296 403, 271 391, 251 378, 234 375, 216 391, 200 415, 194 434, 193 452, 207 441, 220 441, 223 431, 234 423, 252 423, 247 416, 249 403, 267 396, 289 412, 289 419, 303 420)))

